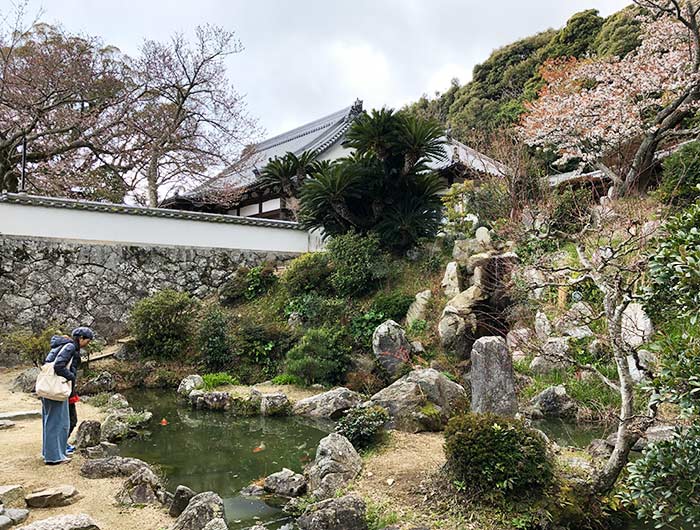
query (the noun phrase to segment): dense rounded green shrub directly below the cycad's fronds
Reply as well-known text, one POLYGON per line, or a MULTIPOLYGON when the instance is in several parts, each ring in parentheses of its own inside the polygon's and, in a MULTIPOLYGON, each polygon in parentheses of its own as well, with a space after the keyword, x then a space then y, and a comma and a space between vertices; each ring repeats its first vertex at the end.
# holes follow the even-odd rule
POLYGON ((376 235, 348 233, 328 243, 333 272, 330 283, 339 296, 376 291, 389 274, 389 262, 376 235))

